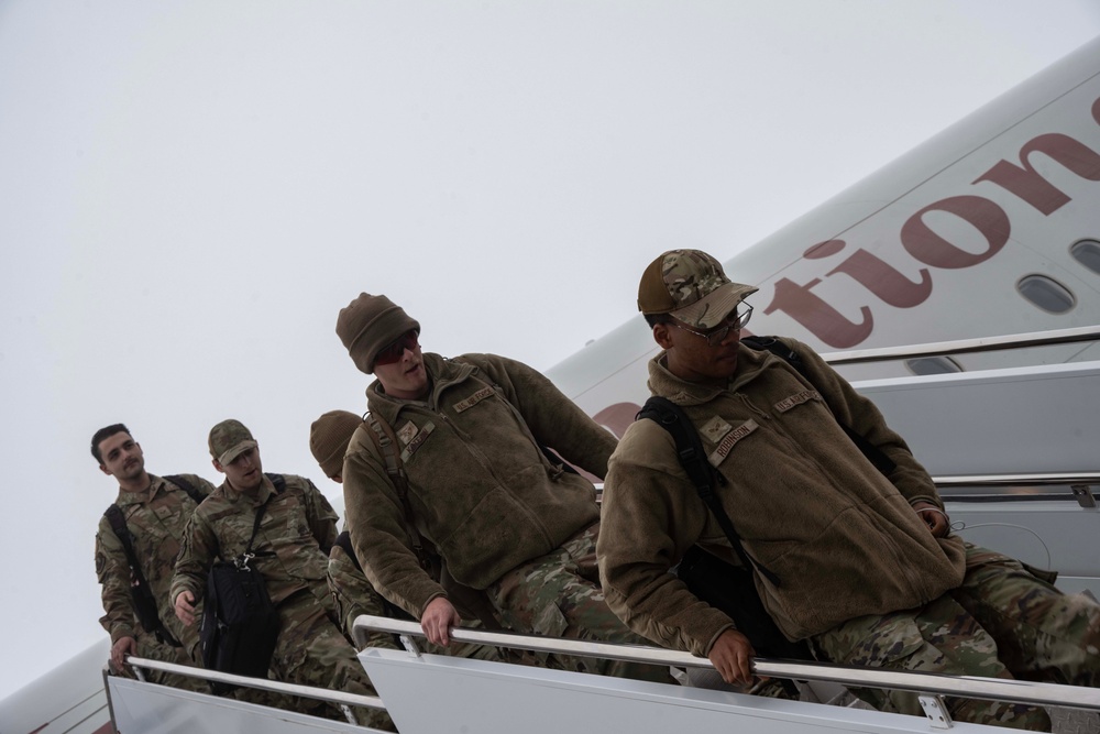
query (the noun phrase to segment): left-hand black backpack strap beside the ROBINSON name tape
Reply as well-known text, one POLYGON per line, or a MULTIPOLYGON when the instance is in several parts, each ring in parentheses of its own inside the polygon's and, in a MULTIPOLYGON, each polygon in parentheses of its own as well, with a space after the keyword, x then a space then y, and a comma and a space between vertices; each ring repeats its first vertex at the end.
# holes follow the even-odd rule
POLYGON ((672 401, 654 395, 646 401, 646 405, 642 406, 637 417, 649 418, 672 435, 672 439, 676 443, 676 454, 680 457, 681 465, 683 465, 684 471, 688 472, 688 476, 691 478, 692 483, 695 485, 695 491, 698 492, 700 499, 706 503, 706 506, 711 508, 711 513, 714 514, 715 519, 718 521, 722 532, 726 534, 729 544, 737 551, 738 558, 741 559, 741 565, 747 569, 755 568, 773 585, 781 585, 778 576, 745 550, 741 544, 741 536, 737 534, 733 521, 729 519, 729 515, 726 514, 715 492, 715 486, 725 483, 725 479, 706 460, 706 453, 703 450, 703 441, 698 438, 698 431, 695 430, 695 427, 691 424, 683 409, 672 401))

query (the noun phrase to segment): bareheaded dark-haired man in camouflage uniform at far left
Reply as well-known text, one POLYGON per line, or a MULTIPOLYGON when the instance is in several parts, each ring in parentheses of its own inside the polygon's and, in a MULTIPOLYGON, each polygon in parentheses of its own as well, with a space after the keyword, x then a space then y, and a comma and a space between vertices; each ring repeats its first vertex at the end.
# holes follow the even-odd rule
MULTIPOLYGON (((114 503, 122 512, 141 572, 164 625, 164 631, 160 633, 163 640, 141 626, 132 594, 134 574, 122 540, 105 515, 96 532, 96 574, 102 585, 106 612, 100 622, 111 635, 112 669, 120 675, 132 675, 124 664, 130 655, 201 666, 198 635, 179 624, 168 595, 184 527, 197 503, 185 487, 145 471, 141 445, 133 440, 130 430, 122 424, 96 431, 91 439, 91 456, 99 462, 100 471, 119 482, 119 496, 114 503)), ((176 482, 188 483, 199 495, 213 491, 212 484, 194 474, 176 478, 176 482)), ((208 690, 202 680, 186 676, 148 671, 146 678, 188 690, 208 690)))

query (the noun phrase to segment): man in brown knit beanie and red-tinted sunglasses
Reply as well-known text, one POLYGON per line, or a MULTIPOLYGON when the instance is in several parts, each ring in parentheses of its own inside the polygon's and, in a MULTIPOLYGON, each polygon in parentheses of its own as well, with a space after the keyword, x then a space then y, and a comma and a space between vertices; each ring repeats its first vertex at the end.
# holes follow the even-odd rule
MULTIPOLYGON (((461 617, 449 587, 421 568, 422 534, 449 576, 483 590, 506 627, 645 644, 600 589, 594 487, 543 451, 603 476, 614 436, 526 364, 421 352, 420 325, 386 296, 352 300, 337 333, 355 366, 377 377, 343 465, 346 526, 371 583, 419 618, 430 642, 448 645, 461 617)), ((657 666, 561 662, 672 680, 657 666)))

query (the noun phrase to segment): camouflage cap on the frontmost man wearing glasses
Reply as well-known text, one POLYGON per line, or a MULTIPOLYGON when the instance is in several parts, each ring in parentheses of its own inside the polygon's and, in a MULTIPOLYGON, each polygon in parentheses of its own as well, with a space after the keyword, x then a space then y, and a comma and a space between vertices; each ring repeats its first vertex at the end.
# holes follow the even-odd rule
POLYGON ((733 283, 722 264, 702 250, 669 250, 641 274, 638 310, 647 316, 669 314, 688 326, 711 329, 757 291, 733 283))

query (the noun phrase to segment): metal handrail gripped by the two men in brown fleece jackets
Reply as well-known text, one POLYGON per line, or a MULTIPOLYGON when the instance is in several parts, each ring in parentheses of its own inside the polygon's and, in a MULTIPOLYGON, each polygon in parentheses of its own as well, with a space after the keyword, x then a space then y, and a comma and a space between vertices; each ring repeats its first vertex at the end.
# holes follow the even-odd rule
MULTIPOLYGON (((391 620, 388 617, 365 614, 355 618, 354 628, 386 632, 408 638, 425 636, 424 631, 417 622, 391 620)), ((452 639, 460 643, 495 645, 538 653, 581 655, 626 660, 629 662, 669 665, 681 668, 714 668, 706 658, 660 647, 595 643, 585 639, 538 637, 512 632, 475 631, 465 627, 454 627, 450 631, 450 635, 452 639)), ((760 676, 772 678, 821 680, 864 688, 902 689, 920 693, 996 699, 998 701, 1011 701, 1014 703, 1057 705, 1100 711, 1100 689, 1078 686, 1002 680, 977 676, 946 676, 942 673, 882 670, 880 668, 839 666, 824 662, 794 662, 770 658, 756 658, 754 670, 760 676)))

